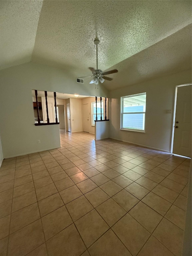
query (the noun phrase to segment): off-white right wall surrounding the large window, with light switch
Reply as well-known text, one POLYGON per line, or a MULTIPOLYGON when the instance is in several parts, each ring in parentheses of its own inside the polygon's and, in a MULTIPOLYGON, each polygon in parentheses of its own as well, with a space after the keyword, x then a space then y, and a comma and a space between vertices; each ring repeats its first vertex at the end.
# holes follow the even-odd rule
POLYGON ((110 92, 110 138, 170 152, 173 113, 165 110, 174 108, 176 85, 190 82, 188 70, 110 92), (120 98, 142 92, 146 92, 146 132, 120 130, 120 98))

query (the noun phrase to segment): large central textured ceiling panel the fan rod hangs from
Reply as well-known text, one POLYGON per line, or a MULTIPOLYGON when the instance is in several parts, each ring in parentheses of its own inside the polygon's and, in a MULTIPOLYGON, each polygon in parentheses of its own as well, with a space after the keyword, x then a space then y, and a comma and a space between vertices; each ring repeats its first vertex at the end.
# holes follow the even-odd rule
POLYGON ((191 1, 44 1, 32 61, 102 70, 191 23, 191 1))

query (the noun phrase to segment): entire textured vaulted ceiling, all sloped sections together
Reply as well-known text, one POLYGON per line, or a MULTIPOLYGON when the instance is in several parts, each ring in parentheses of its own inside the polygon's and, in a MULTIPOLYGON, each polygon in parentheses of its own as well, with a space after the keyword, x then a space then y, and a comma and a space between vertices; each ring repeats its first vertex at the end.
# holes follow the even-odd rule
MULTIPOLYGON (((37 62, 91 75, 110 89, 191 67, 191 1, 1 1, 1 69, 37 62)), ((85 82, 90 79, 85 78, 85 82)), ((104 85, 102 84, 102 85, 104 85)))

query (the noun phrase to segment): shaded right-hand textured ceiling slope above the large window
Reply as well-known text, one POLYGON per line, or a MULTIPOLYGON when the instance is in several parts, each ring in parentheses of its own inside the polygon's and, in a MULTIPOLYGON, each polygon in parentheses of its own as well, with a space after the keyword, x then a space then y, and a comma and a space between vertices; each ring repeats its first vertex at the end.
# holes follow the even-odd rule
MULTIPOLYGON (((169 74, 191 69, 191 24, 157 44, 114 65, 118 73, 105 80, 108 90, 131 86, 169 74)), ((84 78, 89 82, 90 78, 84 78)), ((104 84, 103 83, 103 84, 104 84)))

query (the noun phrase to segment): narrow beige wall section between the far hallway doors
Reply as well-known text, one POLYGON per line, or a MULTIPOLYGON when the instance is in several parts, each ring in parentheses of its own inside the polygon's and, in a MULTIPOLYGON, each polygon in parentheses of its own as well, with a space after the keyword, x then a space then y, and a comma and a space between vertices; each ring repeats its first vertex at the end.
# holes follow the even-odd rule
POLYGON ((71 132, 83 130, 82 124, 82 100, 70 99, 71 132))

